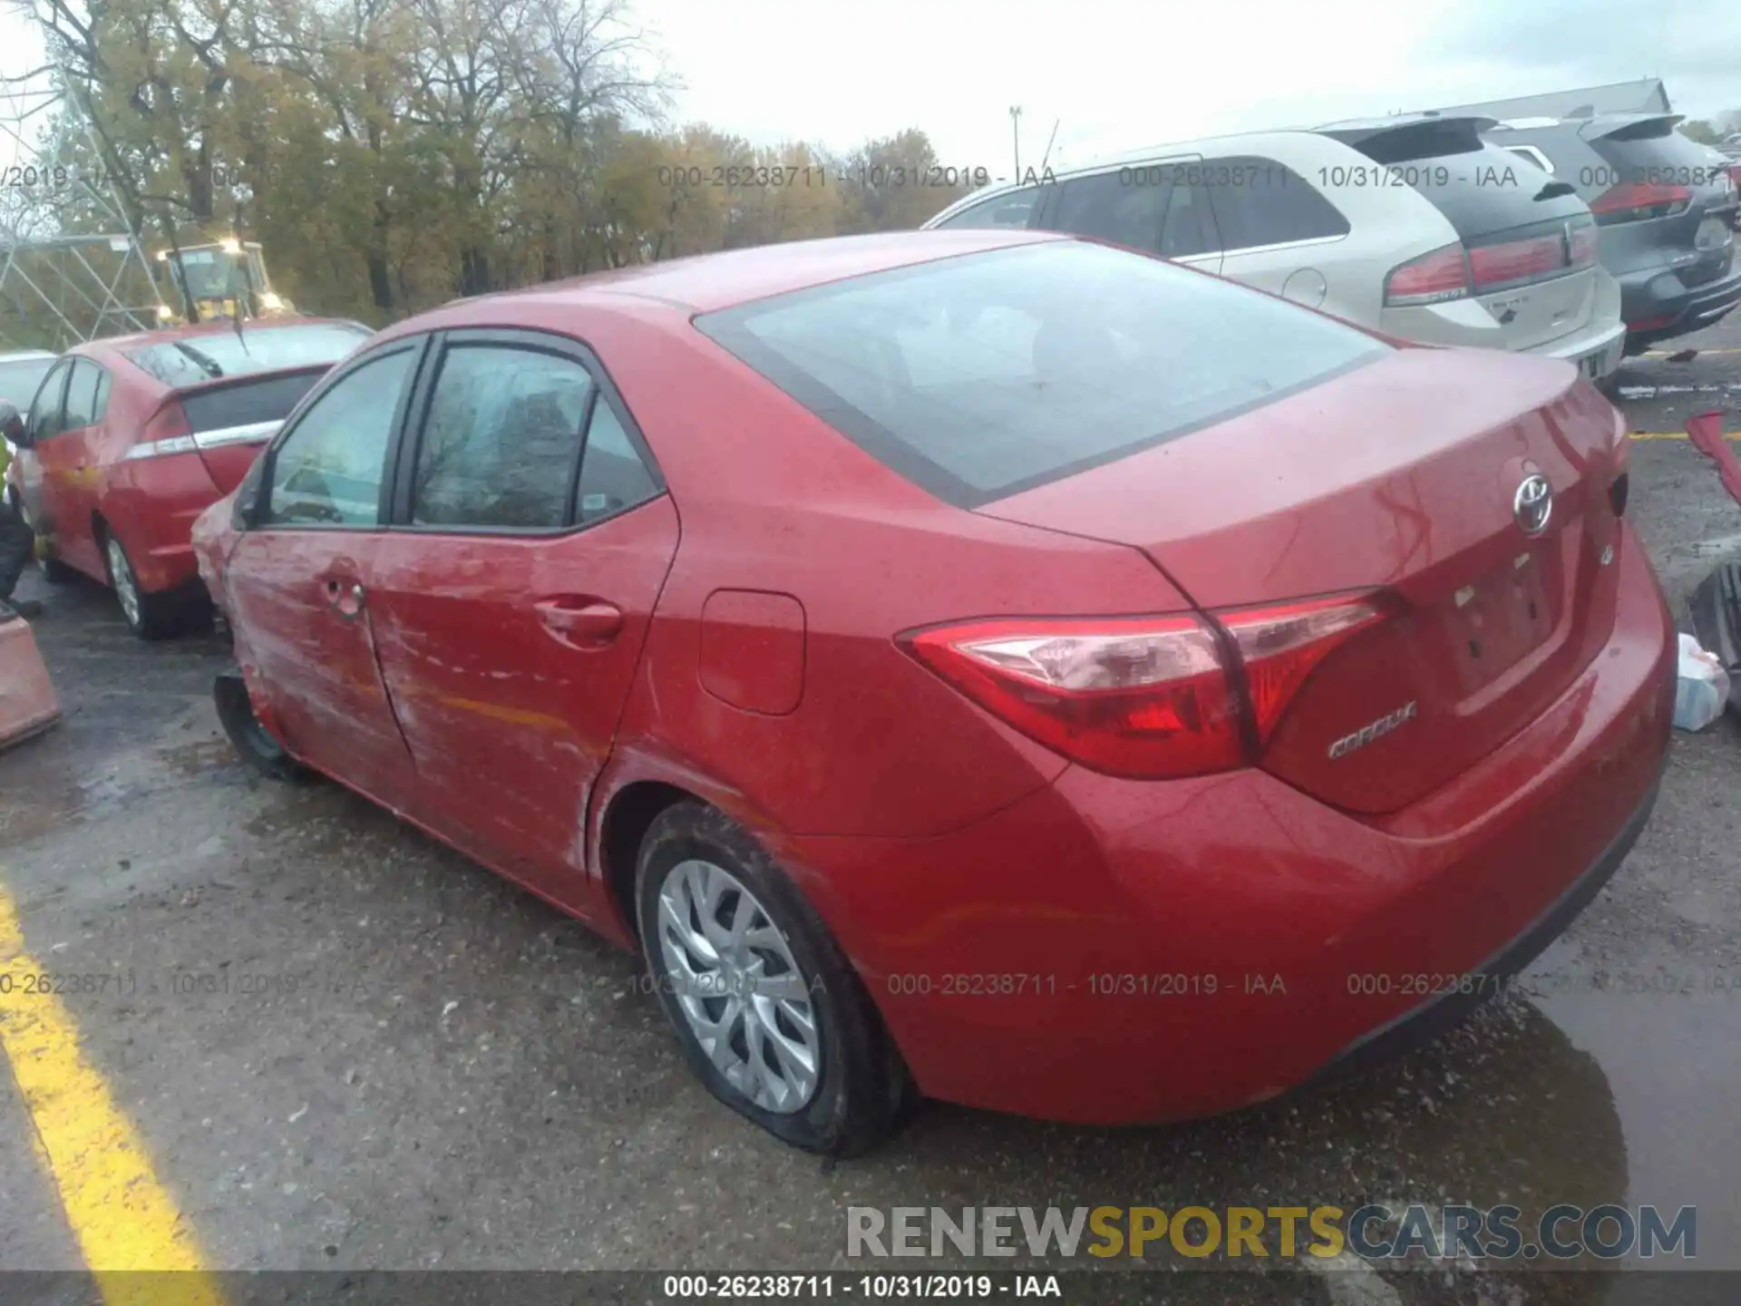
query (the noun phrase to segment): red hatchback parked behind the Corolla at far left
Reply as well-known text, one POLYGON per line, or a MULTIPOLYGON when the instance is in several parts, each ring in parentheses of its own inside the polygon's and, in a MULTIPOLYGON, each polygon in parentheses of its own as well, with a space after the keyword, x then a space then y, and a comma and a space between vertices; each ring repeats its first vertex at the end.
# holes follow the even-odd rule
POLYGON ((19 439, 24 515, 44 573, 115 589, 129 629, 174 634, 198 599, 193 519, 247 472, 308 387, 369 338, 357 322, 282 319, 77 345, 42 387, 19 439))

